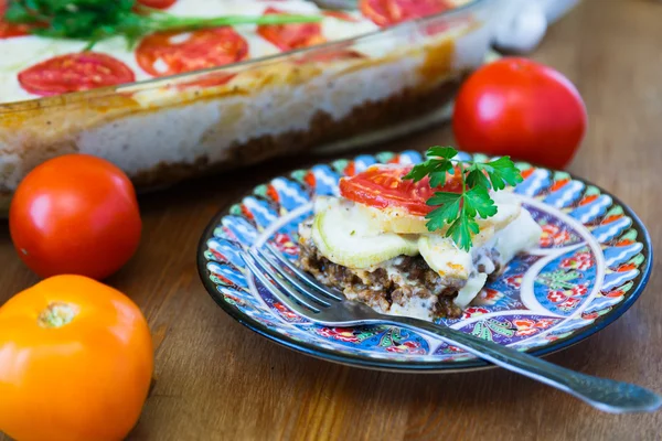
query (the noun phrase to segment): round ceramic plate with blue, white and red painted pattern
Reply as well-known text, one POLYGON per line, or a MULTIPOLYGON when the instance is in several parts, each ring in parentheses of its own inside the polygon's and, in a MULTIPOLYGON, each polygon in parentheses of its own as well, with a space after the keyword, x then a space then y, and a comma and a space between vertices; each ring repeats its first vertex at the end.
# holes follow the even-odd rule
MULTIPOLYGON (((465 154, 465 159, 471 157, 465 154)), ((297 170, 259 185, 216 216, 201 239, 200 276, 234 319, 287 347, 317 357, 397 370, 490 366, 444 341, 393 325, 316 325, 278 302, 245 268, 238 244, 270 241, 296 259, 297 226, 316 194, 338 193, 343 175, 376 162, 416 163, 415 151, 360 155, 297 170)), ((476 161, 488 157, 474 155, 476 161)), ((652 263, 650 238, 616 197, 565 172, 517 163, 514 189, 543 228, 538 247, 513 259, 460 319, 441 320, 498 344, 544 355, 577 343, 619 318, 643 290, 652 263)))

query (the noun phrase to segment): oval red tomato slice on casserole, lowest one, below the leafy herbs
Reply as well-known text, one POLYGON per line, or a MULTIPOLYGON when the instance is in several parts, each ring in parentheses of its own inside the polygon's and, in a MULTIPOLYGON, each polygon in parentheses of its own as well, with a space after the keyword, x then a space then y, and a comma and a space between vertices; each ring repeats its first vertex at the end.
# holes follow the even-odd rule
POLYGON ((40 96, 115 86, 135 78, 129 66, 97 52, 55 56, 19 73, 21 87, 40 96))

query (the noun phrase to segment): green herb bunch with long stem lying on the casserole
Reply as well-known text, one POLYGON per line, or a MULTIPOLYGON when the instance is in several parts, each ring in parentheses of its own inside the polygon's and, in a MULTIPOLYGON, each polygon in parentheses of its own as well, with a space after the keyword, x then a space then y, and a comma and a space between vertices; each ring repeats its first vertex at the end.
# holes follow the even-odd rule
POLYGON ((129 47, 150 33, 193 31, 237 24, 286 24, 319 22, 321 17, 268 14, 261 17, 223 15, 213 18, 177 17, 136 3, 136 0, 10 0, 4 21, 34 24, 32 33, 55 39, 97 42, 121 35, 129 47))

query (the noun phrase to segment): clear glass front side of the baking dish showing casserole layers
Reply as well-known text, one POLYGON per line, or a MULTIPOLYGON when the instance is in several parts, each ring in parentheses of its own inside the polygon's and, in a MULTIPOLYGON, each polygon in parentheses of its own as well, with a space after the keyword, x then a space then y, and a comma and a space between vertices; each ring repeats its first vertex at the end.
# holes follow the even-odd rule
POLYGON ((499 4, 474 0, 305 50, 0 105, 0 209, 30 170, 60 154, 105 158, 142 191, 442 120, 462 78, 484 61, 499 4), (337 60, 339 51, 362 56, 337 60))

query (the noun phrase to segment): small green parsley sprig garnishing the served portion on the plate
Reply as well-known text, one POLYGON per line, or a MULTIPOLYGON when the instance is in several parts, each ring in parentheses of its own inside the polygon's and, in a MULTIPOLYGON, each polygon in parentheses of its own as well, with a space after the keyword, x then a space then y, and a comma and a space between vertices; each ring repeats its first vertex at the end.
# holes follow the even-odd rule
POLYGON ((427 201, 436 206, 426 218, 428 230, 435 232, 448 225, 446 237, 451 237, 461 249, 469 250, 472 235, 480 232, 476 217, 487 219, 496 214, 496 205, 490 190, 503 190, 508 184, 522 182, 520 170, 509 157, 490 162, 461 161, 452 147, 431 147, 427 160, 415 165, 404 179, 418 182, 429 176, 430 186, 444 186, 448 174, 456 175, 462 184, 460 193, 435 192, 427 201))

